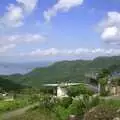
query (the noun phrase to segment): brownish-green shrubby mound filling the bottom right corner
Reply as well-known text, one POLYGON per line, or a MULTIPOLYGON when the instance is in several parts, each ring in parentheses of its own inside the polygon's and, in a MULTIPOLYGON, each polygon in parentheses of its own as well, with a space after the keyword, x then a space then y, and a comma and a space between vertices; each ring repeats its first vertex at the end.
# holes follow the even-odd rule
POLYGON ((102 101, 97 107, 92 108, 85 114, 84 120, 119 120, 120 101, 102 101))

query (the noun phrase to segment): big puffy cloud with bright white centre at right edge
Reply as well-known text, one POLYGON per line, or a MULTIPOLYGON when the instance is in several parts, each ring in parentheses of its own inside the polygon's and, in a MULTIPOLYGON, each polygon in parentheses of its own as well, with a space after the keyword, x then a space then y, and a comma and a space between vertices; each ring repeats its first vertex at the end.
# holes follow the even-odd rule
POLYGON ((101 38, 110 44, 120 44, 120 13, 108 12, 107 17, 99 23, 101 38))

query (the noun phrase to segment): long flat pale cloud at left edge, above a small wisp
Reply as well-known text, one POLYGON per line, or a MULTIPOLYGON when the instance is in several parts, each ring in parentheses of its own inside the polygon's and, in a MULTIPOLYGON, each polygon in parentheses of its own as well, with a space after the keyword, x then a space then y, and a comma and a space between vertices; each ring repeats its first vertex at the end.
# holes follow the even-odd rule
POLYGON ((31 43, 31 42, 44 42, 46 37, 41 34, 15 34, 9 36, 1 36, 0 44, 18 44, 18 43, 31 43))

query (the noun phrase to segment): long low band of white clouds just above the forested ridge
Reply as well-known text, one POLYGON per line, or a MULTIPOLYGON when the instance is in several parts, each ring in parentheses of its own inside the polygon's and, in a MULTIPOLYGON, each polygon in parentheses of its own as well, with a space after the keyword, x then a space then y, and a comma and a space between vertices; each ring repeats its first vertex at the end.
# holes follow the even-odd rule
POLYGON ((78 49, 56 49, 56 48, 50 48, 50 49, 37 49, 29 53, 20 53, 21 56, 29 56, 34 58, 41 58, 41 57, 47 57, 47 56, 111 56, 111 55, 120 55, 120 49, 102 49, 102 48, 96 48, 96 49, 87 49, 87 48, 78 48, 78 49))

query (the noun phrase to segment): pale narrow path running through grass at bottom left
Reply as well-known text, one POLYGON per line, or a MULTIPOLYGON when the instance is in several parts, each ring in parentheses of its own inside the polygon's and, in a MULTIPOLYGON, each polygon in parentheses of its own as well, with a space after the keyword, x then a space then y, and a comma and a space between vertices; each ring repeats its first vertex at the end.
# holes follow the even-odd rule
POLYGON ((15 117, 15 116, 18 116, 18 115, 22 115, 22 114, 24 114, 27 110, 29 110, 30 108, 33 108, 33 107, 38 106, 38 105, 39 105, 39 103, 35 103, 35 104, 33 104, 33 105, 29 105, 29 106, 24 107, 24 108, 20 108, 20 109, 11 111, 11 112, 4 113, 4 114, 0 117, 0 120, 9 120, 11 117, 15 117))

